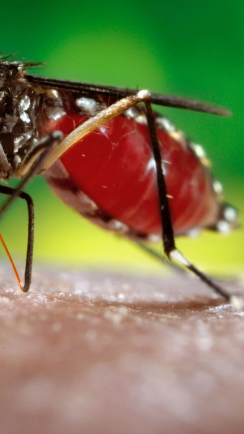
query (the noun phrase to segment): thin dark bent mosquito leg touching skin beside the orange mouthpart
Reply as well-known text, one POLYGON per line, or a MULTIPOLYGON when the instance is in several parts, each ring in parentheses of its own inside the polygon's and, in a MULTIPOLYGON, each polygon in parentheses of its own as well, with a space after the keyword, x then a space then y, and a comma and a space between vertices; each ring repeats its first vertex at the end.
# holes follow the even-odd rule
MULTIPOLYGON (((16 192, 15 188, 0 185, 0 193, 13 196, 16 192)), ((24 199, 28 208, 28 241, 27 241, 27 253, 25 259, 25 272, 24 272, 24 286, 23 292, 27 292, 31 285, 32 277, 32 261, 33 261, 33 244, 34 244, 34 204, 31 196, 20 191, 18 197, 24 199)))

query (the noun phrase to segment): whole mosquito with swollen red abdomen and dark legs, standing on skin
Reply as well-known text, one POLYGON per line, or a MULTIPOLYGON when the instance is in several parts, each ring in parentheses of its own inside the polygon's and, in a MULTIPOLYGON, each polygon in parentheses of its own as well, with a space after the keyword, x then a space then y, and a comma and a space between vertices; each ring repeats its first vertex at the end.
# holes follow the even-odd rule
POLYGON ((23 291, 31 284, 34 206, 22 190, 42 174, 68 206, 139 244, 162 239, 168 259, 200 277, 227 301, 233 297, 177 250, 175 236, 236 226, 235 209, 202 147, 152 104, 229 115, 223 108, 147 90, 113 88, 28 74, 36 64, 0 59, 0 186, 28 206, 23 291))

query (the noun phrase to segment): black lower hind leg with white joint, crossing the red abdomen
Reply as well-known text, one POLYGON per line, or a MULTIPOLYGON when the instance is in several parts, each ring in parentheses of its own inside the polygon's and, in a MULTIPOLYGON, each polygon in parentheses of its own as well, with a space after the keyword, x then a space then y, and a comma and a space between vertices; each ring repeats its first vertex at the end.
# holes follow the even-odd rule
POLYGON ((151 104, 148 100, 145 101, 146 115, 148 129, 151 137, 151 144, 153 147, 154 158, 156 162, 156 172, 157 172, 157 184, 159 192, 160 210, 161 210, 161 221, 163 228, 163 245, 164 251, 169 259, 173 259, 178 264, 186 267, 188 270, 196 274, 200 279, 210 286, 217 294, 224 297, 227 301, 233 302, 233 297, 225 291, 221 286, 212 281, 209 277, 199 271, 193 264, 191 264, 188 259, 180 253, 175 247, 173 226, 171 221, 171 214, 169 209, 169 201, 167 198, 167 188, 162 168, 162 157, 160 153, 160 145, 157 136, 157 130, 155 125, 154 113, 151 108, 151 104))

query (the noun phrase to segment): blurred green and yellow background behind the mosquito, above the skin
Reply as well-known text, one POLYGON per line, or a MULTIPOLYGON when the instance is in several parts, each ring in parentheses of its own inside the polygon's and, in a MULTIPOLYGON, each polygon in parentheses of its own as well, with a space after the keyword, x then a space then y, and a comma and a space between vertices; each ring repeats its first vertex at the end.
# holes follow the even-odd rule
MULTIPOLYGON (((37 71, 40 75, 139 86, 231 109, 232 118, 176 109, 161 112, 203 144, 226 198, 243 215, 243 22, 240 0, 155 0, 150 5, 141 0, 12 0, 1 7, 0 50, 46 62, 37 71)), ((160 264, 130 242, 69 210, 41 177, 27 191, 36 204, 36 263, 161 272, 160 264)), ((25 253, 26 226, 25 205, 19 200, 1 223, 17 260, 25 253)), ((227 236, 204 233, 194 240, 178 239, 189 259, 214 274, 243 272, 243 245, 243 229, 227 236)))

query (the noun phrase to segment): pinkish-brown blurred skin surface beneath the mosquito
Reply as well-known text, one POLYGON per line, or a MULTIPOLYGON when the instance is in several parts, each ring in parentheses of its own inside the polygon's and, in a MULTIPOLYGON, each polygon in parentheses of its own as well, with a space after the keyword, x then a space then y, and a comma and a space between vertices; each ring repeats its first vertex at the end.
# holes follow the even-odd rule
POLYGON ((39 269, 27 295, 6 265, 1 280, 1 433, 243 432, 243 312, 197 279, 39 269))

